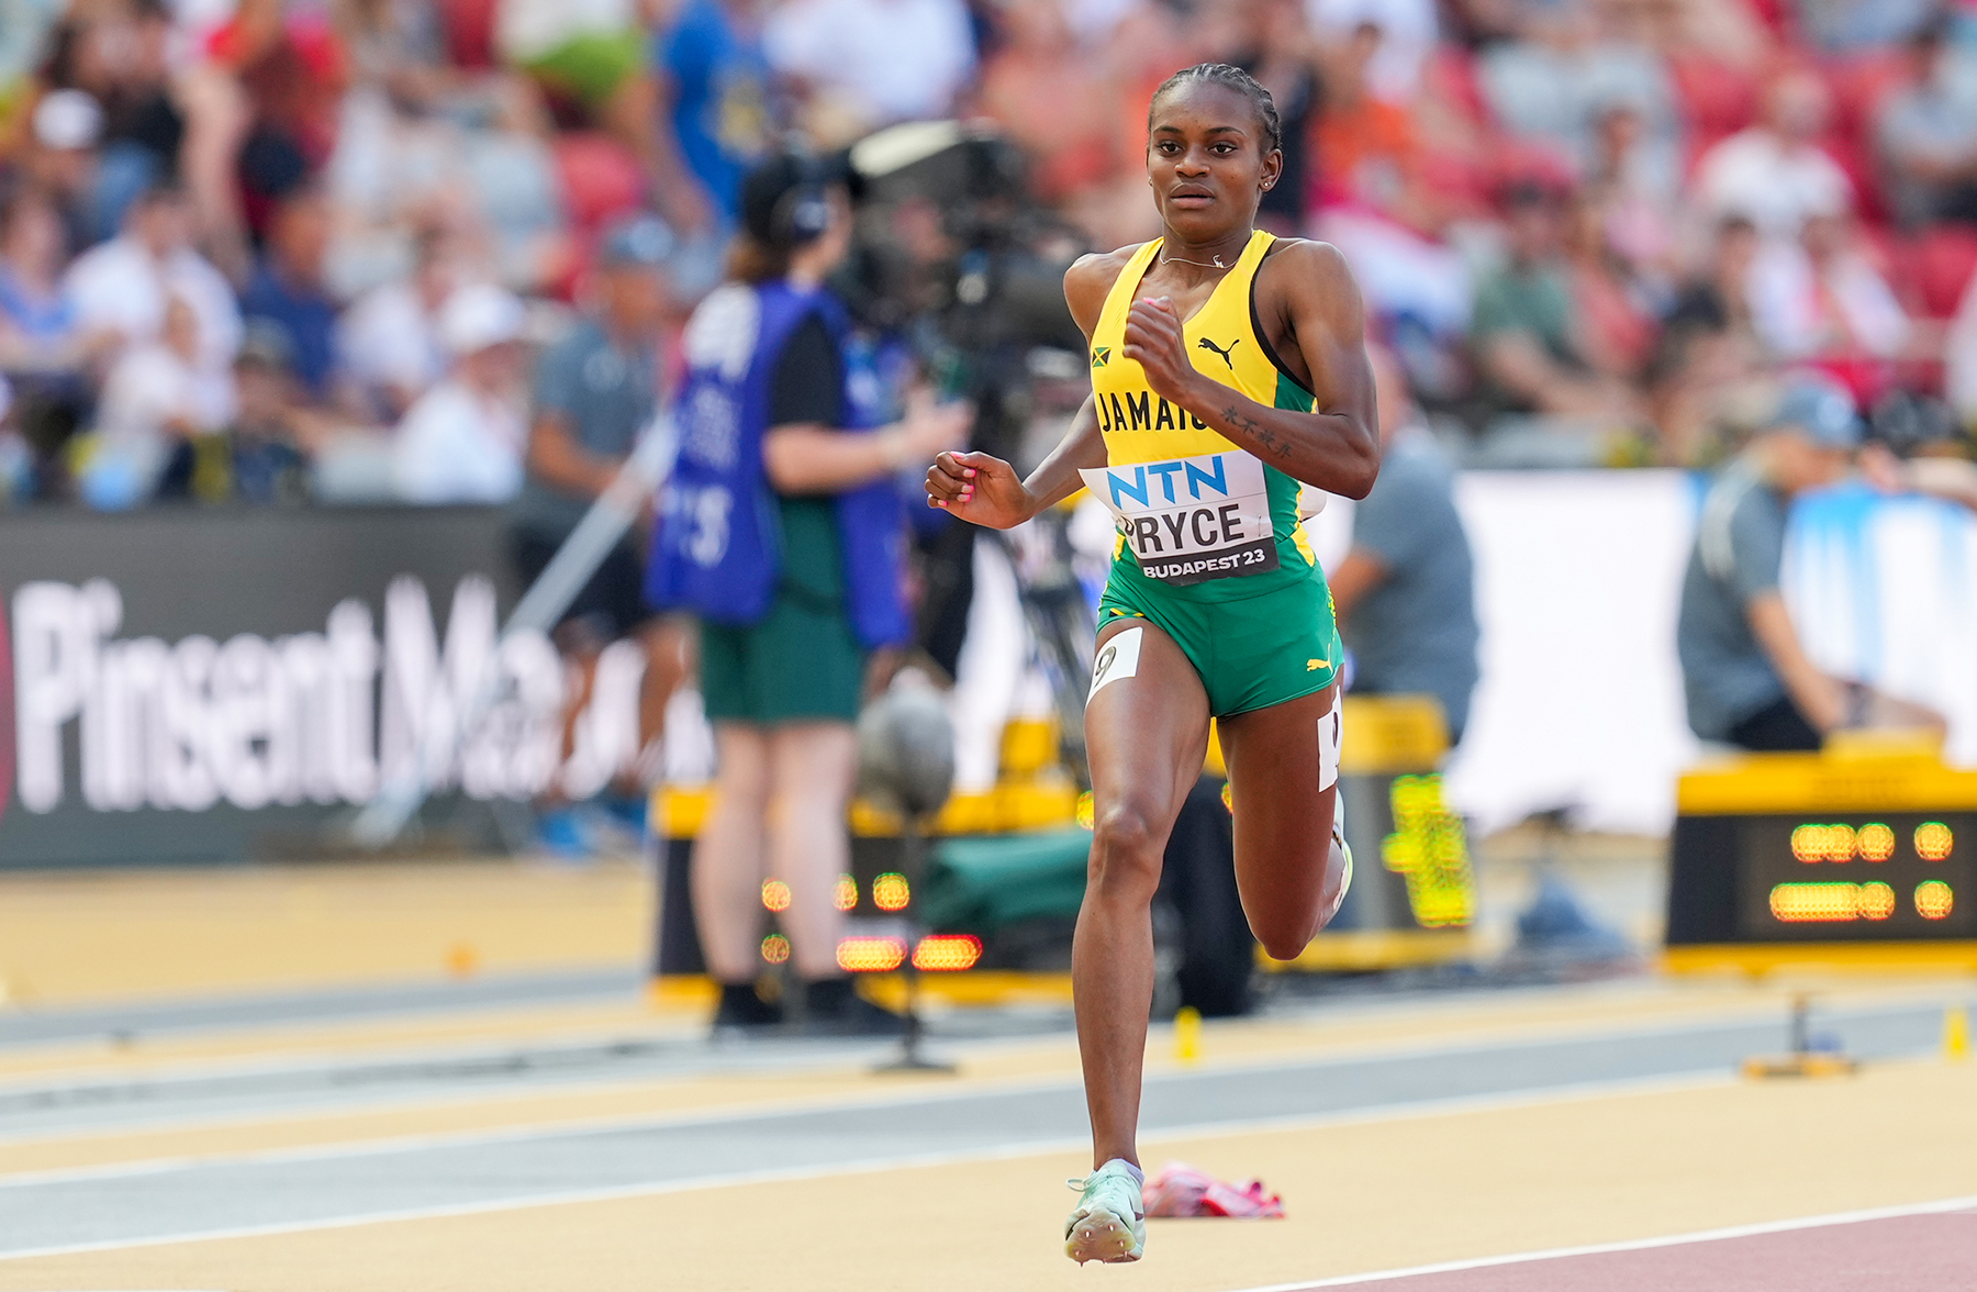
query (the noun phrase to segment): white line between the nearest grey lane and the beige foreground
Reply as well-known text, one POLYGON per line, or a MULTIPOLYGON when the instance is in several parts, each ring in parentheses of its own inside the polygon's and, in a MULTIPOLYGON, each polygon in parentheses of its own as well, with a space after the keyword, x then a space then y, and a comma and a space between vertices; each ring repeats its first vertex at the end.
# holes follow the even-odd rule
MULTIPOLYGON (((1477 1094, 1477 1096, 1461 1096, 1447 1100, 1423 1100, 1418 1104, 1382 1104, 1376 1108, 1356 1108, 1352 1112, 1338 1112, 1338 1114, 1299 1114, 1283 1118, 1257 1118, 1251 1122, 1208 1122, 1200 1126, 1172 1126, 1166 1130, 1143 1134, 1141 1142, 1162 1144, 1162 1142, 1210 1140, 1210 1138, 1242 1136, 1257 1132, 1323 1130, 1332 1126, 1404 1122, 1414 1118, 1437 1118, 1437 1116, 1451 1116, 1465 1112, 1499 1112, 1499 1110, 1532 1108, 1540 1104, 1599 1100, 1599 1098, 1615 1098, 1631 1094, 1665 1094, 1665 1092, 1696 1090, 1710 1086, 1734 1086, 1734 1084, 1738 1084, 1738 1078, 1714 1070, 1688 1076, 1651 1078, 1651 1080, 1627 1078, 1611 1082, 1580 1082, 1570 1086, 1518 1090, 1514 1094, 1477 1094)), ((828 1179, 834 1175, 870 1175, 882 1171, 957 1165, 969 1161, 1006 1161, 1012 1157, 1036 1157, 1044 1154, 1072 1154, 1085 1150, 1087 1146, 1089 1140, 1085 1136, 1066 1136, 1056 1140, 1030 1140, 1024 1144, 1004 1144, 988 1150, 909 1154, 900 1157, 872 1157, 864 1161, 858 1159, 834 1161, 813 1167, 783 1167, 773 1171, 733 1171, 726 1175, 698 1175, 690 1179, 672 1179, 658 1183, 611 1185, 603 1189, 561 1189, 561 1191, 532 1193, 522 1197, 486 1199, 478 1203, 449 1203, 443 1207, 403 1207, 397 1211, 374 1211, 374 1213, 326 1217, 314 1221, 281 1221, 275 1225, 202 1229, 178 1235, 150 1235, 142 1239, 105 1239, 97 1243, 26 1246, 14 1250, 0 1250, 0 1260, 30 1260, 38 1256, 79 1256, 85 1252, 130 1250, 138 1246, 170 1246, 180 1243, 212 1243, 221 1239, 263 1239, 275 1235, 356 1229, 362 1225, 386 1225, 399 1221, 439 1221, 463 1215, 526 1211, 532 1207, 565 1207, 573 1203, 603 1203, 629 1197, 660 1197, 666 1193, 692 1193, 698 1189, 728 1189, 737 1185, 828 1179)), ((1301 1288, 1301 1286, 1307 1284, 1285 1284, 1285 1288, 1301 1288)))

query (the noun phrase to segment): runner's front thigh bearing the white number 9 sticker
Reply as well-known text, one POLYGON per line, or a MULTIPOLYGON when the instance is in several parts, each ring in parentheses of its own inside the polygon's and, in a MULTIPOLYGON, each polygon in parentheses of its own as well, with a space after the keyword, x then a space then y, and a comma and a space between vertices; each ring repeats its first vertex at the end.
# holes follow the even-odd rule
POLYGON ((1172 829, 1208 752, 1208 692, 1174 639, 1145 619, 1105 625, 1085 702, 1099 819, 1131 807, 1172 829))

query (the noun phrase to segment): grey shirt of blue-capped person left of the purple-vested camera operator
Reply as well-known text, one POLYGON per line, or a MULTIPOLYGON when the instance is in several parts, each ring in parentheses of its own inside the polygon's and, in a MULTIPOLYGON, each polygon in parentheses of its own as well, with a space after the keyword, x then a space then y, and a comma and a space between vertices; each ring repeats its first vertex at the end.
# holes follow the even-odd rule
MULTIPOLYGON (((627 354, 585 319, 536 366, 536 415, 554 414, 597 457, 625 457, 658 408, 658 364, 650 348, 627 354)), ((550 485, 534 471, 514 501, 516 522, 548 538, 577 528, 591 501, 550 485)))

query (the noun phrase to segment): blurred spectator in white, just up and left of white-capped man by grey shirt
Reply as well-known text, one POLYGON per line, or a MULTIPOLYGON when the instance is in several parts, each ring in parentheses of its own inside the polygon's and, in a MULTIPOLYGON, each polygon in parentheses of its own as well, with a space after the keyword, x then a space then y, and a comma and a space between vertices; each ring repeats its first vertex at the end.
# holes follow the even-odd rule
POLYGON ((427 230, 417 241, 417 265, 374 287, 336 323, 338 378, 350 404, 374 421, 397 421, 453 362, 439 338, 439 311, 461 287, 453 239, 427 230))

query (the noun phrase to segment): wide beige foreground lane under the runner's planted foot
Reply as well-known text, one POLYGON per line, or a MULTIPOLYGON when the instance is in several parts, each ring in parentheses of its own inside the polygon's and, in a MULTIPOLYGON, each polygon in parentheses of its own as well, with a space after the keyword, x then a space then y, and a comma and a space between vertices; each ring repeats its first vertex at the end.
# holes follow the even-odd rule
POLYGON ((1058 1154, 0 1260, 0 1292, 1228 1292, 1971 1195, 1973 1096, 1977 1068, 1930 1061, 1157 1142, 1155 1163, 1259 1173, 1291 1219, 1155 1223, 1131 1270, 1060 1254, 1083 1163, 1058 1154))

